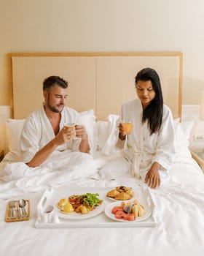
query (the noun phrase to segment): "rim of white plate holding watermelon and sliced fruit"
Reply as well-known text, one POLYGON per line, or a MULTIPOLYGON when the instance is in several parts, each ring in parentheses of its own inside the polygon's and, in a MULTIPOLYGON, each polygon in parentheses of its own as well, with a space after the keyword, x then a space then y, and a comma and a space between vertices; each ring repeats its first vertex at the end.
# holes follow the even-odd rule
POLYGON ((117 219, 117 218, 115 217, 115 214, 112 214, 112 213, 111 213, 111 210, 112 210, 112 208, 114 208, 114 206, 120 206, 120 204, 121 204, 121 203, 116 202, 116 203, 111 203, 111 204, 109 204, 108 206, 106 206, 106 208, 105 208, 105 214, 106 214, 106 216, 109 217, 109 218, 111 218, 111 219, 116 220, 117 222, 141 222, 141 221, 143 221, 144 219, 149 218, 149 216, 152 214, 152 211, 150 210, 150 208, 149 208, 149 207, 146 207, 144 204, 142 204, 142 205, 144 206, 144 208, 145 208, 145 211, 146 211, 146 214, 145 214, 143 217, 138 217, 138 218, 136 218, 135 220, 131 220, 131 221, 130 221, 130 220, 125 220, 125 219, 117 219))

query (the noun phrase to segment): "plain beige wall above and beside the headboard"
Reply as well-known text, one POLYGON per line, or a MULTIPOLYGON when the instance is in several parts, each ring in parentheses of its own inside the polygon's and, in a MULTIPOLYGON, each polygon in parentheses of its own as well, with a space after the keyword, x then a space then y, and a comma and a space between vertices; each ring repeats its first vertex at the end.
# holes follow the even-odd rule
POLYGON ((204 91, 203 0, 0 0, 0 105, 10 52, 181 51, 183 104, 204 91))

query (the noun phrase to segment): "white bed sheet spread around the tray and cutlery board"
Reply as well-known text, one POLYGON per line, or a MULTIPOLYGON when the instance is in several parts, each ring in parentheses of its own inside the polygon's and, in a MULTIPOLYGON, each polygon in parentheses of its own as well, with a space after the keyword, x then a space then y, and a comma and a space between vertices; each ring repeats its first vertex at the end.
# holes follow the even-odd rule
MULTIPOLYGON (((98 166, 109 161, 109 157, 97 159, 98 166)), ((91 177, 63 180, 55 185, 69 188, 141 185, 135 178, 109 181, 101 180, 95 170, 91 174, 91 177)), ((18 177, 19 182, 23 178, 18 177)), ((0 255, 203 255, 204 176, 190 157, 177 157, 168 184, 150 189, 156 205, 155 227, 36 229, 36 206, 46 187, 43 176, 38 179, 43 186, 36 189, 22 189, 11 183, 10 188, 4 190, 6 183, 0 184, 0 255), (11 197, 31 200, 29 221, 4 222, 11 197)))

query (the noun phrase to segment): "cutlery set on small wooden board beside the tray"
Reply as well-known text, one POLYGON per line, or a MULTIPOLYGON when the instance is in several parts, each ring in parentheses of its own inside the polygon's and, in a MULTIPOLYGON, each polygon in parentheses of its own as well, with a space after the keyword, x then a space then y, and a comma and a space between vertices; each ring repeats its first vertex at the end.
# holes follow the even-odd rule
POLYGON ((30 217, 30 201, 29 200, 11 200, 7 204, 6 222, 17 222, 28 220, 30 217))

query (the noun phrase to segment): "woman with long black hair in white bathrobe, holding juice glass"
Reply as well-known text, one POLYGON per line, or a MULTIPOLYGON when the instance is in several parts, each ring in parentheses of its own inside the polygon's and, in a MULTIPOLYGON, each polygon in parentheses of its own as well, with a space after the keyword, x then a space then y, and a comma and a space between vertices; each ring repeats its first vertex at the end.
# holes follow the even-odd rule
POLYGON ((125 126, 119 124, 119 140, 125 140, 123 155, 133 176, 142 178, 155 189, 176 156, 173 117, 163 105, 160 78, 151 68, 142 69, 136 75, 138 99, 122 105, 121 119, 131 121, 133 129, 125 134, 125 126))

